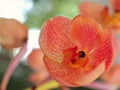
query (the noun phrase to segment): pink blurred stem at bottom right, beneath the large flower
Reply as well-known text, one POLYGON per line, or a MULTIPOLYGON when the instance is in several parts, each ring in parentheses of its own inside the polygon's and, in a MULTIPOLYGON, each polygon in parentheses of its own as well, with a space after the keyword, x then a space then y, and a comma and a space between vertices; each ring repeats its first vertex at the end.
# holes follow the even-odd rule
POLYGON ((114 84, 108 84, 100 81, 94 81, 86 85, 87 88, 97 89, 97 90, 116 90, 117 86, 114 84))

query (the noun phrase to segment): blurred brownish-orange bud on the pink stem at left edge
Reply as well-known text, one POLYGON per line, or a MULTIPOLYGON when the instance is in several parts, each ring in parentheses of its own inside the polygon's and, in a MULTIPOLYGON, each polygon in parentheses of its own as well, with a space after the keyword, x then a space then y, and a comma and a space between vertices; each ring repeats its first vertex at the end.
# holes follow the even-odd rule
POLYGON ((13 49, 27 42, 27 27, 14 19, 0 18, 0 44, 13 49))

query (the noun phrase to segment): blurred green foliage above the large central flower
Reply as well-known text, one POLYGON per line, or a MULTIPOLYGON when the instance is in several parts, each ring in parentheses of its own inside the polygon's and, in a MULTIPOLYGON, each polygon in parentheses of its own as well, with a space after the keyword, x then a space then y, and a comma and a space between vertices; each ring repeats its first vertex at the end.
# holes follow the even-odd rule
POLYGON ((53 16, 72 18, 78 14, 80 0, 34 0, 34 7, 27 14, 26 25, 40 28, 43 22, 53 16))

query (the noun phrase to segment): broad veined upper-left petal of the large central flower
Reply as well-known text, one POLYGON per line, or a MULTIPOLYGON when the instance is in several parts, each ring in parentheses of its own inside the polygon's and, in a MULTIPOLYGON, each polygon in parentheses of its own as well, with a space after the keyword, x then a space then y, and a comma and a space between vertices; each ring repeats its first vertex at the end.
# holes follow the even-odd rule
POLYGON ((41 28, 41 49, 46 56, 59 63, 63 60, 62 50, 74 46, 69 34, 70 22, 68 18, 56 16, 46 21, 41 28))

